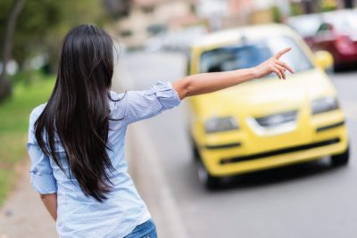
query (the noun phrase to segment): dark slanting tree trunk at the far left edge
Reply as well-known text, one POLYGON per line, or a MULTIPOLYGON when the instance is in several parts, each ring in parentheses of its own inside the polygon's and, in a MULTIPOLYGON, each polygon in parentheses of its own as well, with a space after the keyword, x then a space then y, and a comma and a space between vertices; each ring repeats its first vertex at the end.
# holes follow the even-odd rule
POLYGON ((3 71, 0 75, 0 101, 12 93, 12 85, 9 78, 7 77, 6 65, 12 58, 12 43, 13 35, 16 29, 16 21, 20 15, 24 3, 25 0, 15 0, 12 7, 12 12, 10 13, 6 24, 2 59, 3 71))

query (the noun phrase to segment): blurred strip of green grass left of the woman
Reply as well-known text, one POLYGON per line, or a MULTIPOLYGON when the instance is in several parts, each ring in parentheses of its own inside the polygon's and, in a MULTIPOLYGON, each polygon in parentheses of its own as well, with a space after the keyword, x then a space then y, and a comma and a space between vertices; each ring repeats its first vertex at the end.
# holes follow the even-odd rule
POLYGON ((54 86, 54 77, 36 73, 31 80, 19 75, 12 97, 0 103, 0 206, 16 181, 15 166, 28 160, 25 144, 28 138, 29 113, 46 103, 54 86))

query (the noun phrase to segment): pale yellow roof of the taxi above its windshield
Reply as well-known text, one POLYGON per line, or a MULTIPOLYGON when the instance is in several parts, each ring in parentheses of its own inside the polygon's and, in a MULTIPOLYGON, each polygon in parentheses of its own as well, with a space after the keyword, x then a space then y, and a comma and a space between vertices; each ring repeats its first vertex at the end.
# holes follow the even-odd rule
POLYGON ((214 45, 226 45, 242 40, 257 40, 267 36, 295 35, 294 31, 282 24, 255 25, 237 29, 223 29, 207 34, 195 41, 192 48, 208 48, 214 45))

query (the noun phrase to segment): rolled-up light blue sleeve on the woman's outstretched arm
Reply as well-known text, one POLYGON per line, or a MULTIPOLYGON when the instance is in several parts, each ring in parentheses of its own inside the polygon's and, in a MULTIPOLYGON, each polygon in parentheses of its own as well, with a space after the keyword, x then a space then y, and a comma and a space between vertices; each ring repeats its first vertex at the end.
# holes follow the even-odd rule
POLYGON ((133 123, 141 119, 148 119, 178 106, 181 102, 179 94, 172 88, 170 82, 157 82, 155 86, 143 91, 129 91, 127 93, 126 119, 133 123))

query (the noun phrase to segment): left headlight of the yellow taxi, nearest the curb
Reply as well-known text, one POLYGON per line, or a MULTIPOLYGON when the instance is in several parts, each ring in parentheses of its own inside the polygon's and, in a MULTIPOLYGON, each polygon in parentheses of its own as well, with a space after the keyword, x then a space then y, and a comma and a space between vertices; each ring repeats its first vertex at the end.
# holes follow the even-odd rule
POLYGON ((236 130, 237 128, 237 120, 232 117, 212 118, 204 123, 206 133, 236 130))

